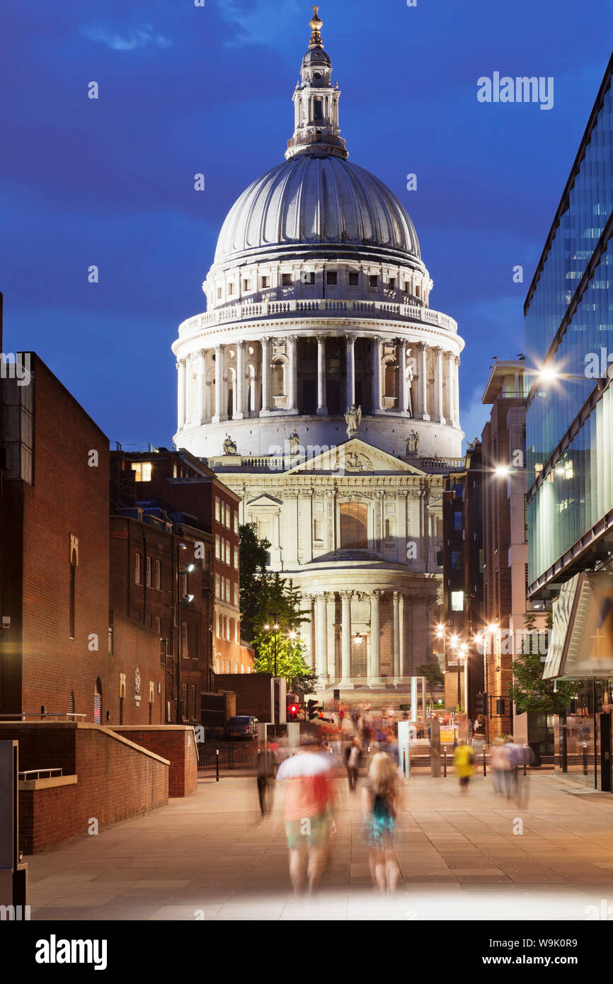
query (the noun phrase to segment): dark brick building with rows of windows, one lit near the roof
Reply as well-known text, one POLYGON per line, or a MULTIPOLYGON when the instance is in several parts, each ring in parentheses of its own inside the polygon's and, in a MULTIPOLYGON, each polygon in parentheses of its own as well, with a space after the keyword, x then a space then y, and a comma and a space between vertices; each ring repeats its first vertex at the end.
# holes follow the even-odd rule
POLYGON ((168 719, 179 696, 183 718, 199 719, 213 674, 253 670, 240 639, 238 499, 189 453, 151 448, 111 453, 111 504, 111 594, 158 632, 168 719))

